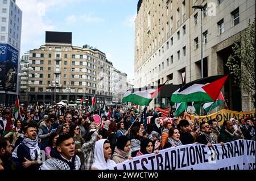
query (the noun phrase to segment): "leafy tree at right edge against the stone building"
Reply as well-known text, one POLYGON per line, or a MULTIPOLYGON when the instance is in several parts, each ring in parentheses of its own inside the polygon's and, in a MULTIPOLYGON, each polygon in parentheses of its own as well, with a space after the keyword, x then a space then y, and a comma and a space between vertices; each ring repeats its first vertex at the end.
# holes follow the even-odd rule
POLYGON ((240 39, 234 41, 232 50, 226 66, 241 89, 250 96, 255 107, 255 19, 252 24, 249 20, 249 27, 240 39))

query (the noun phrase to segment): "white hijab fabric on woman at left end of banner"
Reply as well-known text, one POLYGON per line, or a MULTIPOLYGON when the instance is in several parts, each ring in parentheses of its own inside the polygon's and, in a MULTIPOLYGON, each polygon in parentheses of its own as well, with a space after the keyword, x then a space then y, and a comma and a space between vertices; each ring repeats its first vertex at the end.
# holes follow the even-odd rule
POLYGON ((95 143, 94 146, 94 163, 92 165, 92 168, 96 168, 98 170, 105 170, 106 168, 110 166, 114 166, 115 162, 111 159, 108 159, 108 161, 105 161, 104 158, 104 142, 106 139, 98 140, 95 143))

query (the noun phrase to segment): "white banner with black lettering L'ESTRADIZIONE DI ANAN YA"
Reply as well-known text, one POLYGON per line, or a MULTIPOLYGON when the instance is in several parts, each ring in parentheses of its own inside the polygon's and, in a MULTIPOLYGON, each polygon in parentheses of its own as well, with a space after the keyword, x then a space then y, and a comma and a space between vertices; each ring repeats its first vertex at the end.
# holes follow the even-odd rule
POLYGON ((221 146, 191 144, 134 157, 109 170, 253 170, 255 141, 236 140, 221 146))

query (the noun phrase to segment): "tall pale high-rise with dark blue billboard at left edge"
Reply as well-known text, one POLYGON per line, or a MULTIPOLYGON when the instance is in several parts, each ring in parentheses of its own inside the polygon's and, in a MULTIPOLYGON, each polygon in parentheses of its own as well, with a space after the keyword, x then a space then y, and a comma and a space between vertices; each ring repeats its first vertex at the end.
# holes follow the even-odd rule
POLYGON ((0 103, 15 103, 18 95, 18 64, 22 11, 15 0, 0 1, 0 103))

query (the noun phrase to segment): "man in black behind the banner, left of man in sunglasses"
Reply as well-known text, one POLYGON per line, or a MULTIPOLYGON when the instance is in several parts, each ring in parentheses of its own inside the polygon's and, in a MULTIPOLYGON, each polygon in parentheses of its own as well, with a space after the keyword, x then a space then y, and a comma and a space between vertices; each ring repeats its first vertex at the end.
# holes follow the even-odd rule
POLYGON ((188 120, 181 119, 178 125, 180 128, 180 141, 183 145, 193 144, 194 138, 191 133, 189 133, 189 122, 188 120))

